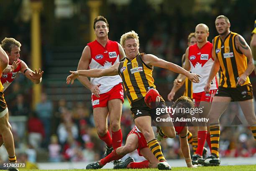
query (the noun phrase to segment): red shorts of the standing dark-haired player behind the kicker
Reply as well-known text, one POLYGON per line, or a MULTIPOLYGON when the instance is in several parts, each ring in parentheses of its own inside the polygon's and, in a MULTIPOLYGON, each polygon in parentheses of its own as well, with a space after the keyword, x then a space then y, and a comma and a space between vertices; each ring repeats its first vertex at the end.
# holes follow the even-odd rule
POLYGON ((109 92, 100 94, 100 97, 96 97, 92 94, 92 108, 107 107, 108 101, 112 99, 121 99, 123 102, 122 83, 115 85, 109 92))

